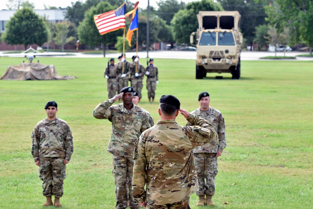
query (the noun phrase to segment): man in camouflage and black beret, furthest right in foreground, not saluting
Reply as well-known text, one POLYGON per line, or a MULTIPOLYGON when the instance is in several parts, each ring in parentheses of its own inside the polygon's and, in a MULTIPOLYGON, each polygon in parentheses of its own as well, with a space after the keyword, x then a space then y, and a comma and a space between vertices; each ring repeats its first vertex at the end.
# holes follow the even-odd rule
POLYGON ((198 101, 200 107, 191 113, 209 121, 213 125, 217 136, 209 144, 193 150, 199 182, 197 206, 205 204, 214 206, 212 196, 215 193, 215 176, 218 173, 217 158, 222 155, 223 149, 226 147, 225 122, 222 113, 209 106, 210 95, 208 92, 201 92, 198 101), (204 179, 206 180, 205 183, 204 179))

